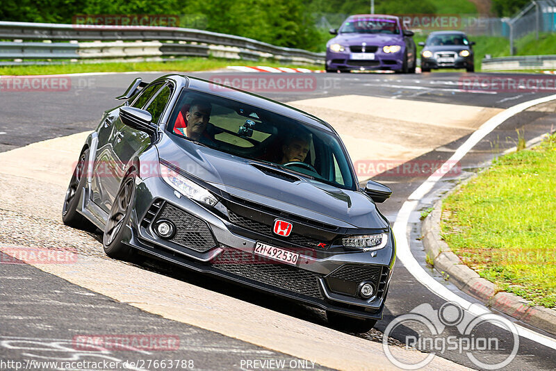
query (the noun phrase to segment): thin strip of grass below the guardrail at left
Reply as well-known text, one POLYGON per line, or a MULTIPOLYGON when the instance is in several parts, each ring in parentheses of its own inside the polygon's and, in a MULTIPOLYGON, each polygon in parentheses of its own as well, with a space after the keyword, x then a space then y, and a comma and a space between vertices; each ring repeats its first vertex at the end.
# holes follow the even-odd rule
POLYGON ((284 65, 281 63, 237 59, 187 58, 167 62, 106 62, 106 63, 64 63, 63 65, 26 65, 0 67, 0 75, 50 75, 79 74, 85 72, 193 72, 226 68, 229 65, 265 65, 268 67, 291 67, 323 69, 324 66, 284 65))

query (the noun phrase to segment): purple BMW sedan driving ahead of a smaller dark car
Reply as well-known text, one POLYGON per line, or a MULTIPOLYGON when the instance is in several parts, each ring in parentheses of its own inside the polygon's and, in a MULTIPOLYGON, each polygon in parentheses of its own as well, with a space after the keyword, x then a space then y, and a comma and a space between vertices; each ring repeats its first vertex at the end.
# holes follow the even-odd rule
POLYGON ((405 30, 398 17, 352 15, 330 33, 336 37, 327 42, 327 72, 386 69, 415 73, 414 33, 405 30))

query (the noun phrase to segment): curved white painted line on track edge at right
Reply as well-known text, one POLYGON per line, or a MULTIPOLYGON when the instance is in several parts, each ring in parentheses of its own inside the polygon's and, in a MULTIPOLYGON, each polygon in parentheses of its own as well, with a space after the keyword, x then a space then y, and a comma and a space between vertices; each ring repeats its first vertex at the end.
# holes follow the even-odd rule
MULTIPOLYGON (((461 160, 461 158, 463 158, 468 153, 468 151, 475 147, 475 145, 477 145, 477 143, 480 142, 480 140, 482 140, 482 138, 484 138, 487 134, 491 133, 491 131, 502 124, 502 122, 505 122, 510 117, 522 112, 523 110, 526 110, 527 108, 536 106, 537 104, 546 103, 554 99, 556 99, 556 95, 550 95, 548 97, 526 101, 521 104, 517 104, 516 106, 510 107, 507 110, 498 113, 498 115, 494 117, 491 117, 491 119, 482 124, 482 126, 480 126, 480 128, 477 129, 475 133, 471 134, 471 136, 464 142, 464 144, 455 151, 455 154, 453 154, 450 159, 448 159, 441 167, 439 167, 439 169, 443 169, 444 171, 446 168, 448 168, 449 172, 449 170, 451 170, 451 168, 459 160, 461 160)), ((405 201, 402 205, 402 208, 400 208, 398 216, 395 219, 395 224, 393 226, 393 232, 396 236, 397 256, 404 267, 406 267, 407 271, 435 295, 438 295, 442 299, 450 302, 457 302, 463 308, 468 308, 468 311, 470 313, 473 313, 474 315, 484 315, 486 313, 491 313, 491 311, 486 309, 484 306, 472 305, 471 302, 468 302, 466 299, 457 296, 455 292, 448 290, 448 288, 436 281, 436 279, 425 272, 423 267, 420 266, 416 258, 411 254, 411 249, 409 249, 409 241, 407 240, 407 233, 409 231, 409 216, 416 210, 420 199, 423 199, 423 197, 425 197, 425 195, 427 195, 427 193, 432 190, 435 183, 439 181, 442 176, 443 174, 436 174, 436 172, 429 176, 429 178, 425 182, 423 182, 416 190, 414 190, 413 193, 411 193, 411 195, 409 195, 407 201, 405 201)), ((530 329, 526 329, 525 327, 519 326, 518 324, 516 324, 516 329, 519 336, 523 336, 523 338, 533 340, 534 342, 546 347, 556 349, 556 340, 554 340, 553 338, 549 338, 548 336, 544 336, 530 329)))

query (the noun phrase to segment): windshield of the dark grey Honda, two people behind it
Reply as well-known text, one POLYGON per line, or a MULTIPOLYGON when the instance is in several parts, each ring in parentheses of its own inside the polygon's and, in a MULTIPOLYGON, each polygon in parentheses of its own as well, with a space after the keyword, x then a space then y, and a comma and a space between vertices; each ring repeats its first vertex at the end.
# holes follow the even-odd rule
POLYGON ((167 130, 312 181, 356 189, 336 135, 268 110, 184 89, 167 130))

